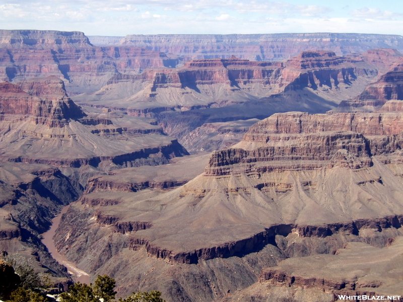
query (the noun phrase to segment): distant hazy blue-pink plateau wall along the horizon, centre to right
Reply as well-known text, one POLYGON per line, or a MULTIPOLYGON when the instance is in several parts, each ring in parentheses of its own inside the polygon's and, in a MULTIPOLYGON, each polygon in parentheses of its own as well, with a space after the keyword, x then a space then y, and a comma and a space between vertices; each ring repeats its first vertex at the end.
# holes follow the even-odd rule
MULTIPOLYGON (((371 48, 403 49, 401 36, 343 33, 255 35, 127 35, 119 44, 135 45, 192 59, 229 58, 284 60, 305 50, 331 50, 338 55, 371 48)), ((94 39, 94 44, 97 45, 94 39)))

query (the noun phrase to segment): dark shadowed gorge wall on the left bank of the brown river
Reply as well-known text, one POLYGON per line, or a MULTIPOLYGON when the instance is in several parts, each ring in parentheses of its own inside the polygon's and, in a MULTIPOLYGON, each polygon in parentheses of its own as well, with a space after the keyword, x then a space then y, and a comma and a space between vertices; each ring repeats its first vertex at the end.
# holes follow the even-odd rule
POLYGON ((41 243, 40 234, 79 193, 53 166, 0 164, 0 250, 24 254, 39 263, 40 271, 54 277, 68 277, 41 243))

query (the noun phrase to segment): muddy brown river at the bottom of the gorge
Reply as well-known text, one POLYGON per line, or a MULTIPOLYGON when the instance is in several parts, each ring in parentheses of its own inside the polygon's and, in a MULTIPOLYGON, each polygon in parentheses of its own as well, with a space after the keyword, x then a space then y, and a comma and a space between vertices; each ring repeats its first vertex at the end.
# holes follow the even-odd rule
POLYGON ((52 219, 52 225, 50 226, 49 231, 42 234, 43 236, 42 243, 47 247, 50 255, 52 255, 52 257, 56 259, 58 263, 64 265, 68 269, 69 273, 72 274, 72 278, 74 281, 76 282, 80 281, 81 283, 90 284, 90 275, 87 274, 82 269, 79 269, 75 263, 67 260, 66 257, 57 252, 56 246, 54 245, 53 242, 53 236, 56 233, 56 229, 59 226, 61 215, 67 212, 69 207, 70 205, 63 207, 60 214, 58 214, 56 217, 52 219))

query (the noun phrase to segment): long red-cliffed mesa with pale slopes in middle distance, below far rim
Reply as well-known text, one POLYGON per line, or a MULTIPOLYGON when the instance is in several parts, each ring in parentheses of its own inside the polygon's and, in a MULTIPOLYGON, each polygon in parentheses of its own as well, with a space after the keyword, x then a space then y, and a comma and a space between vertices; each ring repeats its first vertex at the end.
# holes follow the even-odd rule
POLYGON ((195 59, 177 69, 116 75, 100 91, 77 96, 75 100, 104 106, 110 106, 108 102, 114 100, 114 107, 139 110, 158 107, 192 110, 229 106, 307 87, 334 90, 331 94, 337 99, 338 94, 339 97, 357 94, 355 89, 337 90, 355 85, 364 88, 376 75, 377 69, 369 60, 339 57, 329 51, 305 51, 284 63, 249 61, 235 56, 195 59))

